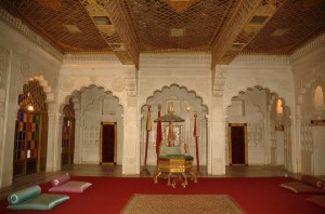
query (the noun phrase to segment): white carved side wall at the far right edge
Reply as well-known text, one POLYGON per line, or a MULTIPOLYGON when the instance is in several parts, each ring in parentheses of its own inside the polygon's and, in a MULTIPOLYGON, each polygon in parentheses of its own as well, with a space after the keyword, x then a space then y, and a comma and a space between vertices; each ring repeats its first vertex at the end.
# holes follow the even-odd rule
POLYGON ((290 56, 297 101, 298 139, 297 150, 301 153, 300 171, 324 175, 325 136, 324 125, 311 125, 311 120, 325 119, 325 106, 314 106, 317 85, 325 89, 325 34, 306 44, 290 56))

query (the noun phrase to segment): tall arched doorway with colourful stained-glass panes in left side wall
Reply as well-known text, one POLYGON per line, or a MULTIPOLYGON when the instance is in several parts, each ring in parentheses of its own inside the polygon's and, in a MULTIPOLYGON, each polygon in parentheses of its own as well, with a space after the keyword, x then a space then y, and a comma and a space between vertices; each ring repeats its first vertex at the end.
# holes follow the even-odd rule
POLYGON ((23 85, 15 121, 13 177, 46 171, 48 148, 48 105, 43 88, 36 79, 23 85))

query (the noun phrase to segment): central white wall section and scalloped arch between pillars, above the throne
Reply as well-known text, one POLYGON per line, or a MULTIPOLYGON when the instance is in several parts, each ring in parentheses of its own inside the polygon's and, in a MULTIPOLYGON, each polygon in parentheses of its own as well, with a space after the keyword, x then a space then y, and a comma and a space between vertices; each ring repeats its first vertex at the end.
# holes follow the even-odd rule
MULTIPOLYGON (((209 138, 207 136, 207 118, 210 113, 211 104, 211 69, 209 54, 142 54, 140 58, 139 70, 139 96, 138 107, 141 109, 141 161, 144 160, 145 144, 145 121, 146 107, 145 104, 152 104, 152 119, 157 118, 157 105, 162 105, 161 116, 167 113, 167 101, 174 101, 174 105, 179 106, 180 117, 186 118, 186 106, 191 105, 190 124, 193 130, 194 117, 198 113, 200 124, 199 142, 199 162, 206 165, 208 162, 209 138), (202 106, 204 105, 204 107, 202 106)), ((151 144, 148 147, 147 164, 156 163, 155 151, 155 129, 153 123, 151 132, 151 144)), ((192 133, 192 132, 191 132, 192 133)), ((195 142, 192 138, 190 152, 195 158, 195 142)), ((211 158, 211 157, 210 157, 211 158)))

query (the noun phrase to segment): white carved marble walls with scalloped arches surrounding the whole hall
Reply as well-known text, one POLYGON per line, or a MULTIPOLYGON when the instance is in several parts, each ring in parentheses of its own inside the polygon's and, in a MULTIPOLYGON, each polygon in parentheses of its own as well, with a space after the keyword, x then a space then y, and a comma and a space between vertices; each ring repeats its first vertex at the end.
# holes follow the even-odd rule
MULTIPOLYGON (((203 109, 200 122, 206 130, 202 131, 200 157, 207 165, 209 174, 222 175, 226 164, 225 119, 226 108, 232 98, 248 89, 259 86, 274 93, 285 101, 288 109, 284 118, 286 132, 284 136, 275 136, 271 131, 275 121, 272 119, 271 107, 266 103, 257 103, 251 96, 245 103, 250 109, 256 125, 263 133, 250 139, 250 145, 264 145, 263 151, 251 146, 250 160, 257 164, 271 163, 275 151, 271 151, 276 141, 284 142, 284 165, 290 172, 307 172, 325 174, 322 164, 324 135, 322 126, 310 128, 312 119, 324 119, 325 107, 315 108, 313 92, 316 85, 325 89, 325 36, 304 45, 290 56, 284 55, 239 55, 230 65, 217 65, 210 68, 210 54, 141 54, 140 68, 121 65, 114 55, 64 55, 53 49, 48 42, 28 29, 17 18, 0 9, 0 187, 12 183, 13 135, 14 121, 17 111, 17 95, 22 85, 29 79, 40 78, 47 102, 49 103, 49 138, 47 171, 57 171, 61 168, 60 147, 62 109, 69 97, 76 104, 76 142, 75 160, 82 163, 84 149, 84 118, 82 92, 95 88, 101 92, 109 92, 117 97, 122 108, 122 145, 120 148, 123 174, 139 174, 143 159, 143 121, 146 116, 143 106, 155 98, 155 92, 177 85, 185 90, 193 106, 198 105, 199 97, 203 109), (9 24, 6 24, 9 23, 9 24), (259 110, 255 107, 259 106, 259 110), (261 110, 262 109, 262 110, 261 110), (257 112, 261 119, 257 119, 257 112), (252 144, 252 142, 255 142, 252 144), (83 150, 82 150, 83 149, 83 150), (256 155, 253 155, 256 153, 256 155), (308 169, 311 169, 309 171, 308 169)), ((101 93, 100 92, 100 93, 101 93)), ((173 99, 167 95, 164 101, 173 99)), ((182 97, 183 98, 183 97, 182 97)), ((269 99, 269 98, 266 98, 269 99)), ((271 98, 270 98, 271 99, 271 98)), ((162 99, 161 99, 162 101, 162 99)), ((160 101, 154 101, 159 103, 160 101)), ((185 104, 182 99, 182 105, 185 104)), ((99 102, 100 103, 100 102, 99 102)), ((86 105, 86 104, 84 104, 86 105)), ((89 109, 93 111, 95 107, 89 109)), ((184 116, 184 115, 183 115, 184 116)), ((109 120, 105 118, 104 120, 109 120)), ((239 118, 233 118, 234 120, 239 118)), ((100 121, 101 116, 98 115, 100 121)), ((257 130, 257 131, 256 131, 257 130)), ((152 149, 152 148, 151 148, 152 149)), ((155 153, 151 152, 150 162, 154 163, 155 153)), ((193 148, 192 148, 193 152, 193 148)), ((92 156, 87 162, 95 162, 92 156)), ((275 162, 275 161, 274 161, 275 162)))

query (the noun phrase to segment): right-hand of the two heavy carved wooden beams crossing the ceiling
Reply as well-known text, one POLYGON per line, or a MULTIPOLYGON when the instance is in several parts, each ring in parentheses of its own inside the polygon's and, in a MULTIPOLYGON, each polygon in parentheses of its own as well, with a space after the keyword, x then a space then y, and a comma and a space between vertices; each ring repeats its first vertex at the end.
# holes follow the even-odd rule
POLYGON ((230 64, 260 32, 286 0, 240 1, 222 35, 212 43, 212 65, 230 64))

